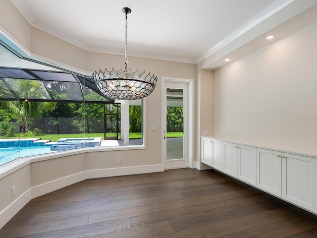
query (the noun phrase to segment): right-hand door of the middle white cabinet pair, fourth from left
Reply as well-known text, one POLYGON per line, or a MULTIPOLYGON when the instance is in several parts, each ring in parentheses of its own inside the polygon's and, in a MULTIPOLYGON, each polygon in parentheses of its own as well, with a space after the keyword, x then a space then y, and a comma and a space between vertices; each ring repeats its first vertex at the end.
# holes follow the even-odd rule
POLYGON ((257 185, 257 150, 255 147, 237 145, 238 147, 238 178, 257 185))

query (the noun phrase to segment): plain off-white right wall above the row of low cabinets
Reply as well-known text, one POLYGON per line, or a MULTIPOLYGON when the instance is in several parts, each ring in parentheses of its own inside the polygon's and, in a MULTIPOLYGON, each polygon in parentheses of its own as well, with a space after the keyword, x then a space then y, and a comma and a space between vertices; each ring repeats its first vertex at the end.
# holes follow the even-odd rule
POLYGON ((214 135, 316 148, 317 23, 214 72, 214 135))

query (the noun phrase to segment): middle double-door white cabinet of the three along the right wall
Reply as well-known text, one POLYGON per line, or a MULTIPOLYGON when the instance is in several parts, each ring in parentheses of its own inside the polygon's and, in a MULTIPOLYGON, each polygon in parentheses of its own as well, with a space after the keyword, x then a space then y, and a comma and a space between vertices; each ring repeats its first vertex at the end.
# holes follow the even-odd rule
POLYGON ((223 172, 256 185, 256 148, 223 142, 223 172))

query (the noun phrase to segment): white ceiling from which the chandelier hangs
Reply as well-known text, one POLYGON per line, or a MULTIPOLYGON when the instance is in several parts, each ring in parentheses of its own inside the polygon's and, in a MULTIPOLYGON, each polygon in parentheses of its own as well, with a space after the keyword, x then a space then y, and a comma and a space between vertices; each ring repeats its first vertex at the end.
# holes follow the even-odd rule
POLYGON ((223 65, 225 57, 234 60, 269 44, 259 40, 265 34, 272 33, 277 40, 297 30, 299 24, 285 24, 317 4, 317 0, 11 2, 33 27, 86 51, 110 54, 124 54, 125 16, 121 8, 128 6, 132 9, 128 15, 129 56, 187 63, 207 59, 205 67, 211 69, 223 65))

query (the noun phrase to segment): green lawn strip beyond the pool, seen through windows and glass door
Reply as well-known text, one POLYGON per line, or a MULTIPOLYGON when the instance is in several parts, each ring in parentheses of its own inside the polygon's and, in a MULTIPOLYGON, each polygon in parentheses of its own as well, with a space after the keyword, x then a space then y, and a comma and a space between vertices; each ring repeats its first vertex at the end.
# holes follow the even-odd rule
MULTIPOLYGON (((107 137, 115 137, 116 133, 107 133, 107 137)), ((23 133, 20 133, 20 138, 38 138, 40 137, 42 140, 51 140, 51 141, 57 141, 61 138, 84 138, 84 137, 101 137, 104 139, 104 133, 80 133, 80 134, 46 134, 46 135, 24 135, 23 133)), ((183 132, 167 132, 167 137, 183 137, 183 132)), ((5 137, 3 137, 5 138, 5 137)), ((13 138, 13 137, 9 137, 13 138)), ((19 135, 17 135, 14 138, 19 138, 19 135)), ((119 133, 120 138, 120 133, 119 133)), ((129 139, 141 139, 141 132, 136 133, 130 133, 129 139)))

